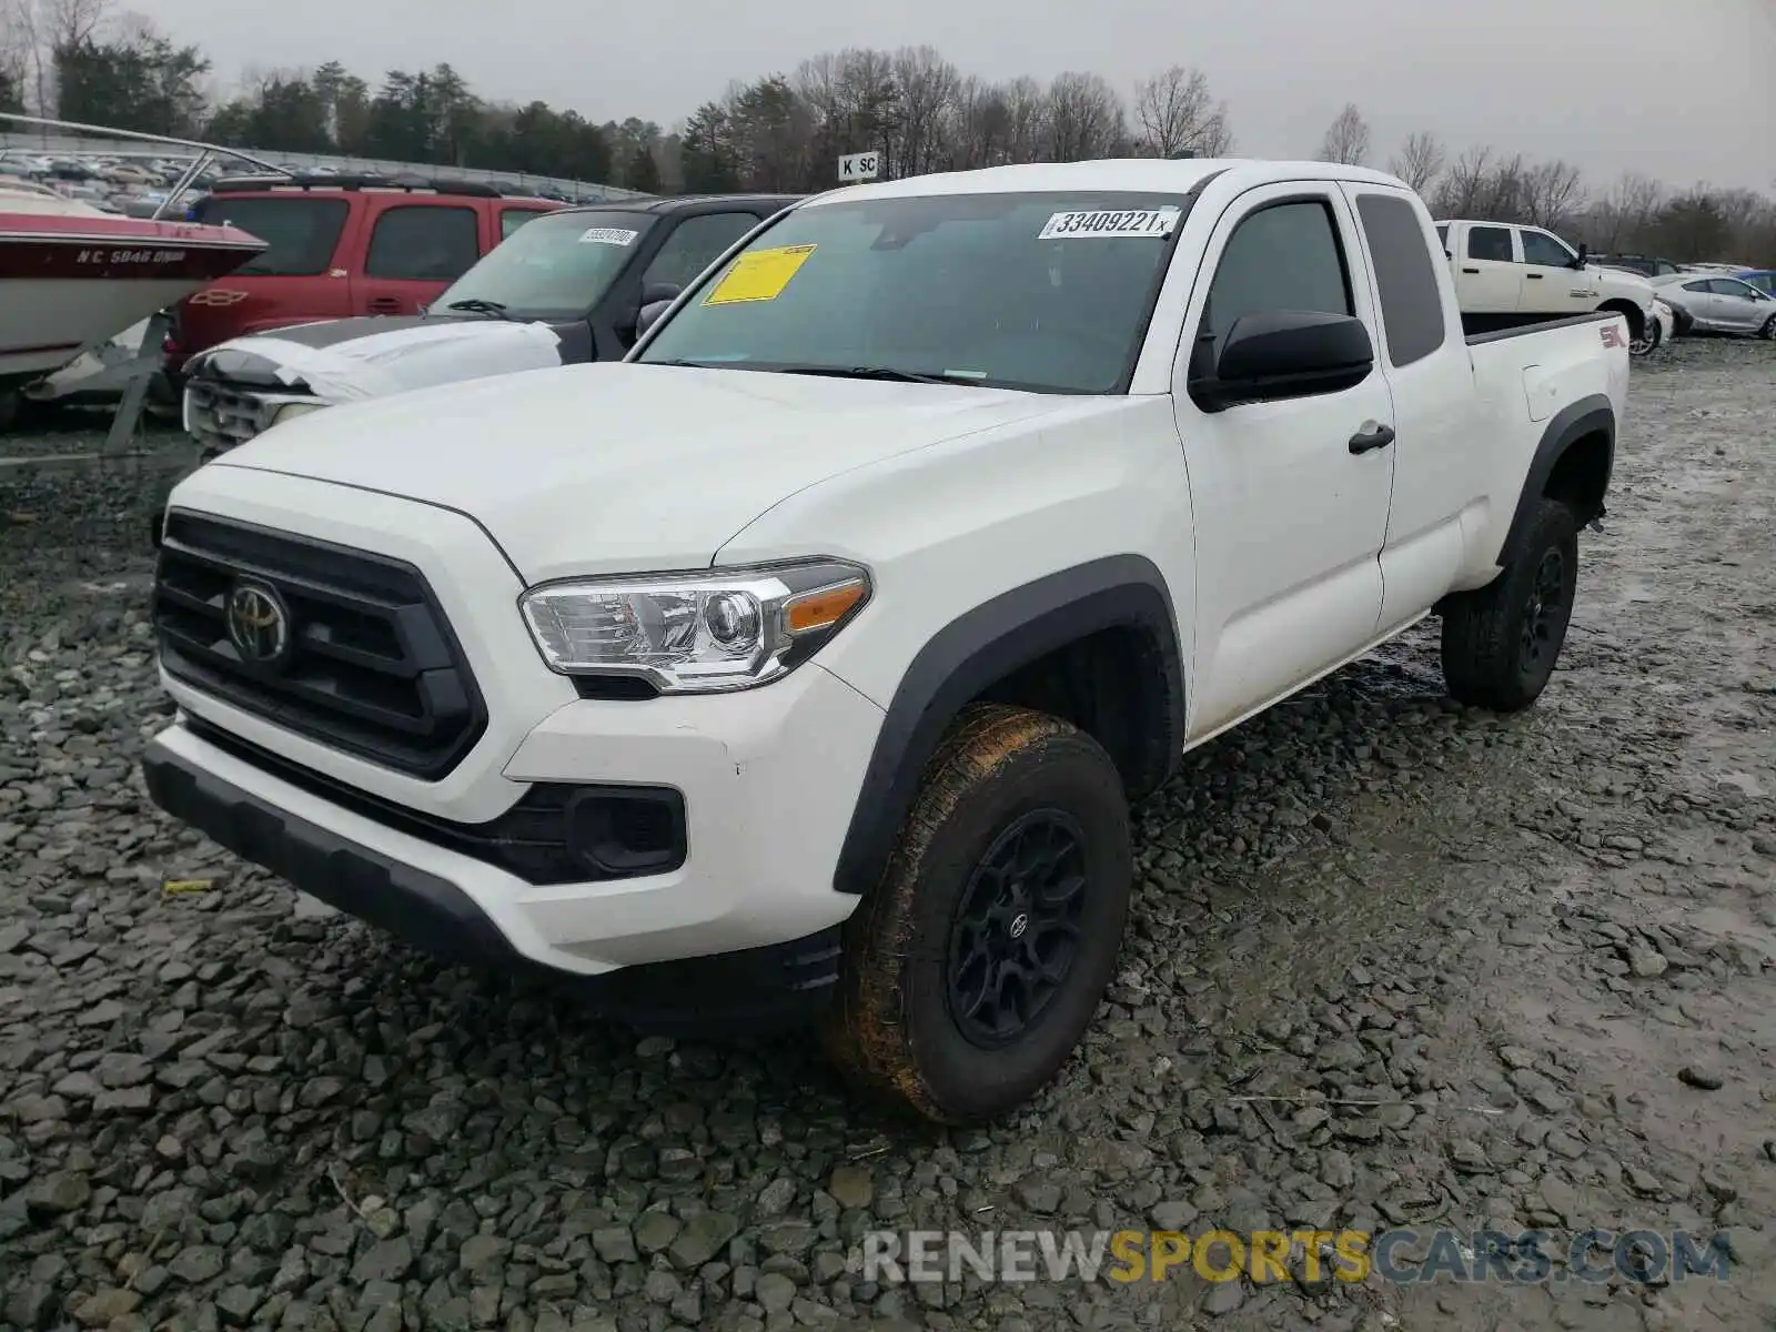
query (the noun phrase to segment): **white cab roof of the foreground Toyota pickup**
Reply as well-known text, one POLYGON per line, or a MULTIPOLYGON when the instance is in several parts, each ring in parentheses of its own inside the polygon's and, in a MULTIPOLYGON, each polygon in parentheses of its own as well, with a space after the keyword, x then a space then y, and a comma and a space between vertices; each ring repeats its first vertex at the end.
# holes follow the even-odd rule
POLYGON ((840 199, 897 199, 934 194, 1012 194, 1051 190, 1130 190, 1137 194, 1188 194, 1211 176, 1227 174, 1240 188, 1268 181, 1353 181, 1362 185, 1405 183, 1384 170, 1346 167, 1337 162, 1265 162, 1259 158, 1098 158, 1094 162, 1025 162, 1012 167, 945 170, 899 181, 870 181, 828 190, 810 206, 840 199))

